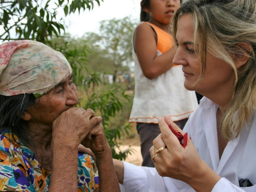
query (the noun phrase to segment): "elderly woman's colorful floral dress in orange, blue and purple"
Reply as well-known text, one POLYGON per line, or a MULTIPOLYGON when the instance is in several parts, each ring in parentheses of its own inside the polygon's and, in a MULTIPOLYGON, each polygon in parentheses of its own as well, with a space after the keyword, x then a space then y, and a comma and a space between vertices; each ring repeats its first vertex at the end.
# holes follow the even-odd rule
MULTIPOLYGON (((33 152, 16 135, 14 138, 21 144, 7 130, 0 130, 0 191, 48 191, 51 171, 41 167, 33 152)), ((78 153, 78 192, 98 187, 98 170, 92 156, 78 153)))

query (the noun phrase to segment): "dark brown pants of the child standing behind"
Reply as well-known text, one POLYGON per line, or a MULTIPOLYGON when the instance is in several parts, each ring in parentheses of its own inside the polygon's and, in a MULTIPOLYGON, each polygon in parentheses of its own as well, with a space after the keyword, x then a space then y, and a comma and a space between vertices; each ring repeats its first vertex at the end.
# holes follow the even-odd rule
MULTIPOLYGON (((183 129, 187 121, 188 118, 175 121, 175 123, 180 127, 180 129, 183 129)), ((142 166, 155 167, 151 160, 149 149, 153 145, 153 140, 161 133, 159 126, 158 124, 153 123, 137 123, 136 129, 140 135, 140 150, 143 158, 142 166)))

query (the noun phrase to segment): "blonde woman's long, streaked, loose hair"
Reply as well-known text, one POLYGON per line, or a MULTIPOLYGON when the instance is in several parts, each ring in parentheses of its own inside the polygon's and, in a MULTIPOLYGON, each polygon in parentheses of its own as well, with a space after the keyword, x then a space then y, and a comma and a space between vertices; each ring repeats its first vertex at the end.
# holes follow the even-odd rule
MULTIPOLYGON (((191 14, 194 25, 194 46, 205 75, 206 52, 225 61, 235 74, 234 91, 221 120, 221 132, 228 139, 236 138, 245 121, 255 115, 256 107, 256 1, 255 0, 188 0, 172 17, 171 31, 175 37, 179 18, 191 14), (248 55, 237 46, 251 45, 250 57, 236 69, 235 58, 248 55), (233 56, 233 57, 232 57, 233 56), (234 118, 234 119, 233 119, 234 118)), ((199 81, 198 80, 198 81, 199 81)), ((198 82, 197 81, 197 82, 198 82)))

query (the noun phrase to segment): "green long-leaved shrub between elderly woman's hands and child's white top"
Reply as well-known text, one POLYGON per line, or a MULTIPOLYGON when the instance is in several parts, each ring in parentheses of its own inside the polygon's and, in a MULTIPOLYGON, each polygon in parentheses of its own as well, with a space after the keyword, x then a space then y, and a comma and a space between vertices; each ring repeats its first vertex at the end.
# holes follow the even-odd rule
MULTIPOLYGON (((94 74, 95 77, 97 74, 94 74)), ((91 84, 98 84, 98 80, 96 78, 92 78, 92 76, 88 76, 85 80, 85 87, 87 87, 87 93, 90 90, 91 84), (96 82, 95 82, 96 80, 96 82)), ((97 86, 93 86, 92 89, 97 86)), ((124 132, 128 135, 129 130, 131 130, 130 124, 125 125, 124 127, 116 126, 114 128, 109 127, 110 117, 115 117, 116 113, 120 112, 124 108, 124 102, 121 102, 120 100, 122 98, 129 101, 128 95, 125 95, 124 92, 121 93, 117 91, 118 87, 114 85, 111 89, 105 91, 105 90, 99 90, 98 92, 93 91, 92 95, 88 96, 88 99, 86 100, 86 103, 84 108, 91 108, 95 111, 100 112, 102 116, 102 124, 104 126, 106 138, 108 140, 108 143, 112 149, 112 155, 113 158, 116 159, 125 159, 128 154, 131 154, 132 149, 128 148, 125 151, 121 151, 119 149, 121 143, 117 142, 117 138, 120 140, 121 134, 124 135, 124 132), (103 115, 102 115, 103 114, 103 115), (116 152, 119 149, 119 152, 116 152)))

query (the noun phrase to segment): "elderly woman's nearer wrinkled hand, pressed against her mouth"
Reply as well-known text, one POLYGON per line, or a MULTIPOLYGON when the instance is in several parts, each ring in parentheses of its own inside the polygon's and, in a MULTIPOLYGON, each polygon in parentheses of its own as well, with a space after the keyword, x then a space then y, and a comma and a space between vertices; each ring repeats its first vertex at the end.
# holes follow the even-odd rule
POLYGON ((91 129, 101 121, 102 118, 95 117, 92 109, 69 108, 53 122, 52 138, 77 147, 91 129))

